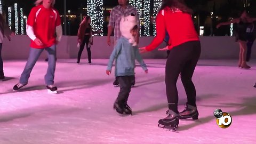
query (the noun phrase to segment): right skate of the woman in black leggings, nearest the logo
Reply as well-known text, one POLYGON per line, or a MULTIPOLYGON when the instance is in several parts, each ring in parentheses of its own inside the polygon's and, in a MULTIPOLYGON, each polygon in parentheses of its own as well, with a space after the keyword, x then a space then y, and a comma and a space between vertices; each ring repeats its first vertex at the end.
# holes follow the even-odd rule
POLYGON ((187 119, 187 118, 193 118, 198 119, 198 111, 197 108, 191 105, 188 105, 187 103, 184 105, 185 109, 179 113, 178 118, 179 119, 187 119))

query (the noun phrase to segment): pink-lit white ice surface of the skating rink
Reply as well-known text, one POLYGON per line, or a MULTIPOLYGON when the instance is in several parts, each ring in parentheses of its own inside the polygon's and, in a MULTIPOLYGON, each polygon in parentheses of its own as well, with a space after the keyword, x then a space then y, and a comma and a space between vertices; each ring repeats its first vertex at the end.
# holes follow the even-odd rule
MULTIPOLYGON (((119 88, 112 84, 114 72, 106 75, 108 60, 86 61, 58 59, 58 94, 48 94, 46 62, 38 61, 28 85, 13 92, 26 61, 5 60, 9 80, 0 82, 0 143, 256 143, 255 60, 250 70, 239 69, 236 60, 200 60, 193 77, 199 119, 180 121, 179 133, 157 127, 167 110, 165 59, 145 60, 148 74, 139 65, 135 69, 137 87, 128 101, 133 116, 113 110, 119 88), (227 129, 216 124, 217 108, 233 118, 227 129)), ((180 78, 177 87, 182 111, 180 78)))

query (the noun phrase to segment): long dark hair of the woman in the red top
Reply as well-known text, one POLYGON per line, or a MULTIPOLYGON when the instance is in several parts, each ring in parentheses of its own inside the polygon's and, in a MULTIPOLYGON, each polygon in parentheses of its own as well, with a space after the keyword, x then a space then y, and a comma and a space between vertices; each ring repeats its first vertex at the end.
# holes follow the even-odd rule
POLYGON ((159 11, 163 10, 165 7, 177 8, 182 12, 190 14, 193 13, 193 11, 187 7, 183 0, 162 0, 162 5, 159 11))

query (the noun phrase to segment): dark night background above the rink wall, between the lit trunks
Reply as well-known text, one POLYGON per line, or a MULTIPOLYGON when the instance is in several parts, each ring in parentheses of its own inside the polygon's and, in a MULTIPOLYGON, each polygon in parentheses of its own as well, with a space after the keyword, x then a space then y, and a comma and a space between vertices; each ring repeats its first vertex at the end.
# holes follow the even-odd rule
MULTIPOLYGON (((79 22, 81 20, 80 15, 86 15, 86 10, 83 10, 83 7, 87 7, 86 0, 66 0, 67 1, 67 10, 70 10, 70 15, 76 15, 76 18, 69 18, 69 25, 67 27, 67 35, 76 35, 77 29, 79 26, 79 22)), ((18 7, 23 8, 24 15, 28 15, 31 7, 34 6, 33 0, 2 0, 3 5, 3 15, 7 11, 7 7, 11 6, 13 9, 14 3, 18 3, 18 7)), ((63 15, 63 2, 64 0, 56 0, 55 8, 63 15)), ((151 0, 151 4, 153 4, 154 0, 151 0)), ((252 17, 256 15, 256 0, 185 0, 186 4, 193 9, 193 18, 195 22, 195 27, 198 30, 198 26, 204 26, 205 31, 204 35, 230 35, 230 26, 223 26, 220 29, 215 29, 215 26, 222 21, 230 20, 230 18, 239 17, 239 12, 244 9, 245 6, 248 7, 250 14, 252 17), (253 9, 254 7, 254 9, 253 9), (210 13, 213 12, 213 15, 210 13), (199 17, 198 17, 199 16, 199 17), (217 18, 218 17, 218 18, 217 18), (199 19, 198 19, 199 18, 199 19), (212 29, 212 30, 211 30, 212 29), (212 31, 212 32, 211 32, 212 31)), ((103 1, 103 7, 112 8, 118 4, 117 0, 105 0, 103 1)), ((151 14, 153 12, 153 7, 151 9, 151 14)), ((107 23, 109 17, 110 10, 104 11, 104 19, 105 19, 105 27, 103 29, 104 35, 107 34, 107 23)), ((5 15, 6 16, 6 15, 5 15)), ((14 18, 14 12, 13 12, 14 18)), ((63 19, 62 19, 63 22, 63 19)), ((153 35, 153 25, 151 25, 150 35, 153 35)))

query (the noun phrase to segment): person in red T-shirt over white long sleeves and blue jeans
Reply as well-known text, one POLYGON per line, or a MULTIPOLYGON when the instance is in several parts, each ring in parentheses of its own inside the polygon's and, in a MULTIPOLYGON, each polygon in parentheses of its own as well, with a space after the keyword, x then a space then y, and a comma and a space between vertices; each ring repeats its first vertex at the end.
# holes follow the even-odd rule
POLYGON ((47 73, 44 77, 46 88, 49 92, 57 93, 57 87, 53 85, 56 65, 56 44, 60 42, 62 27, 59 12, 53 8, 54 4, 55 0, 37 0, 35 2, 36 6, 29 13, 27 35, 31 39, 30 52, 26 66, 21 74, 20 82, 13 87, 14 91, 27 85, 28 78, 37 59, 46 50, 49 58, 47 73))

